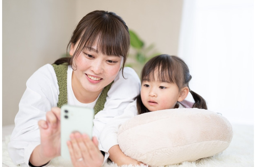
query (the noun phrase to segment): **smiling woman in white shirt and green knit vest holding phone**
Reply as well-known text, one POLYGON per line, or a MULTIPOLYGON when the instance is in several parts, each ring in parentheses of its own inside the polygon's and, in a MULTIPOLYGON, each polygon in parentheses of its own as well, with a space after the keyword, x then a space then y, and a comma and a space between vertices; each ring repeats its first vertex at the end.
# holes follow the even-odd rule
MULTIPOLYGON (((118 15, 99 10, 87 14, 74 30, 67 51, 69 47, 71 58, 64 59, 65 63, 61 59, 54 65, 42 66, 26 83, 8 144, 16 165, 44 166, 60 156, 63 104, 94 108, 93 136, 99 137, 105 124, 122 114, 139 94, 138 75, 133 69, 124 68, 130 35, 118 15)), ((74 166, 102 165, 103 155, 96 138, 91 141, 81 134, 71 134, 68 145, 74 166), (77 145, 72 141, 81 137, 86 141, 81 151, 87 154, 76 154, 77 145)), ((106 152, 105 160, 107 157, 106 152)))

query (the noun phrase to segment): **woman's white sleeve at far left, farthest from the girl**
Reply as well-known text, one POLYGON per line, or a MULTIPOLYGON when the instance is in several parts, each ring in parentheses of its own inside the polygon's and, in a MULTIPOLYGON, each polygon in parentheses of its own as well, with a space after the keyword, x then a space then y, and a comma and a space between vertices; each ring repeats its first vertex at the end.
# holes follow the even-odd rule
POLYGON ((26 90, 19 103, 15 128, 8 143, 14 164, 29 166, 34 148, 40 144, 38 121, 46 119, 46 112, 57 106, 59 86, 52 65, 39 68, 26 82, 26 90))

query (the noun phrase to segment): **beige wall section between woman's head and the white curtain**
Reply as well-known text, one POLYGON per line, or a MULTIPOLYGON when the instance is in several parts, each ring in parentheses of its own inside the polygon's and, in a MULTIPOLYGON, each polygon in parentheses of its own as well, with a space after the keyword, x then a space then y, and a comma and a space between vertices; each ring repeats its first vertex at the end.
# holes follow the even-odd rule
POLYGON ((154 43, 161 53, 177 55, 183 0, 77 0, 77 21, 91 10, 120 15, 146 46, 154 43))

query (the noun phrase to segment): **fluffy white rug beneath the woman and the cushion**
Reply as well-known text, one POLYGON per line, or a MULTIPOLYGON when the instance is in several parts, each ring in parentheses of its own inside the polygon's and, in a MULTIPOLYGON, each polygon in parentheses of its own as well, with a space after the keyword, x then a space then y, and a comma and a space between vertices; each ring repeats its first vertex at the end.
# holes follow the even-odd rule
MULTIPOLYGON (((232 142, 222 153, 194 162, 183 162, 165 167, 253 167, 253 125, 234 124, 232 127, 234 132, 232 142)), ((13 164, 7 152, 10 134, 6 134, 6 130, 8 133, 11 132, 3 127, 2 164, 3 167, 17 167, 13 164)), ((70 162, 57 157, 52 159, 48 167, 71 166, 72 164, 70 162)), ((108 162, 103 167, 118 167, 118 165, 108 162)), ((123 165, 122 167, 132 167, 132 165, 123 165)))

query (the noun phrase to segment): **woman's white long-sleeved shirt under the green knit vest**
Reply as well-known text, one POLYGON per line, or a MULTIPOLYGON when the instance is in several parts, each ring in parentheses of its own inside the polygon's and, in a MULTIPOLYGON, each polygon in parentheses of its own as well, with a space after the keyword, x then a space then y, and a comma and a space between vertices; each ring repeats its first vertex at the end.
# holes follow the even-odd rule
MULTIPOLYGON (((83 104, 73 94, 72 72, 72 68, 68 66, 68 104, 93 108, 97 100, 90 104, 83 104)), ((98 138, 105 124, 113 117, 123 114, 126 106, 140 92, 140 80, 136 72, 132 68, 125 67, 123 75, 122 71, 118 73, 107 93, 104 109, 95 115, 93 135, 98 138)), ((40 144, 38 121, 45 120, 46 112, 57 106, 59 94, 57 77, 53 66, 50 64, 39 68, 26 82, 26 90, 15 117, 15 128, 8 144, 8 152, 14 164, 28 166, 32 151, 40 144)), ((101 148, 100 144, 99 148, 101 148)))

